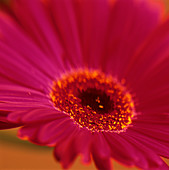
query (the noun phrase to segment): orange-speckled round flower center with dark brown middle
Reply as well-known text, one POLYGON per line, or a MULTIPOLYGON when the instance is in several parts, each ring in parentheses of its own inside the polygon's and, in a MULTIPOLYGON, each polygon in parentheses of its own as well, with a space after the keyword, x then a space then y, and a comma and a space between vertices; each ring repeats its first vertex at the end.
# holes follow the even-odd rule
POLYGON ((132 123, 134 103, 117 80, 100 71, 78 70, 54 82, 50 93, 57 110, 92 132, 121 132, 132 123))

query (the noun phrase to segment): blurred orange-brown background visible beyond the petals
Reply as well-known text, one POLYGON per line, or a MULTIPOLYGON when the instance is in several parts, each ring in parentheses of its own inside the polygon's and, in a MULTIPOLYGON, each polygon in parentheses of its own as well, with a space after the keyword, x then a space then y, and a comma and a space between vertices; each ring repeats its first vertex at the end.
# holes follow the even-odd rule
MULTIPOLYGON (((152 0, 165 4, 165 13, 169 11, 169 0, 152 0)), ((9 0, 0 0, 9 3, 9 0)), ((0 170, 56 170, 61 169, 58 162, 52 156, 53 148, 37 146, 28 141, 23 141, 16 136, 17 129, 0 131, 0 170)), ((165 159, 169 165, 169 160, 165 159)), ((136 170, 137 168, 126 168, 112 161, 115 170, 136 170)), ((94 170, 95 165, 82 165, 80 157, 76 159, 71 170, 94 170)))

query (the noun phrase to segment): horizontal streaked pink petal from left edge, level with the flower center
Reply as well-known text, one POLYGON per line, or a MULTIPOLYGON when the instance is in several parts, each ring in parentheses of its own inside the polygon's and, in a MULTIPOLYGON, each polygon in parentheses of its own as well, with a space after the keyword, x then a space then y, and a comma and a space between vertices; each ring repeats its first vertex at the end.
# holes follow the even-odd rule
POLYGON ((16 85, 0 85, 0 110, 23 110, 36 107, 53 108, 42 92, 16 85))

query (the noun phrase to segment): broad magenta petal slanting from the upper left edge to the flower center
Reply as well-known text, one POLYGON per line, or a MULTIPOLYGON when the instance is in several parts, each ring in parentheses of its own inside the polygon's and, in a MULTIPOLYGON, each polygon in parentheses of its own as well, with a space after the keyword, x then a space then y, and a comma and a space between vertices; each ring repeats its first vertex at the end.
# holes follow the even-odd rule
POLYGON ((57 65, 53 65, 50 58, 42 53, 15 23, 4 19, 0 19, 0 32, 3 34, 3 42, 0 41, 0 55, 3 61, 0 72, 3 77, 15 83, 40 89, 46 85, 46 82, 51 83, 51 78, 59 73, 57 65))

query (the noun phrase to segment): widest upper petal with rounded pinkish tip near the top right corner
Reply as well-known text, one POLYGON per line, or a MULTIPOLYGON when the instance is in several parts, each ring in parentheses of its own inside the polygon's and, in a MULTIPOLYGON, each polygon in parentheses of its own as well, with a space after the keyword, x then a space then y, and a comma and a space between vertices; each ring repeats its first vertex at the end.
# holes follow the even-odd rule
POLYGON ((115 1, 106 31, 107 47, 101 61, 102 65, 105 63, 103 66, 107 73, 121 79, 127 78, 124 75, 128 66, 133 71, 133 66, 130 65, 132 56, 159 24, 158 12, 160 11, 144 0, 115 1))

